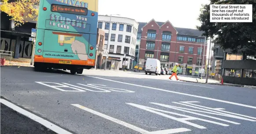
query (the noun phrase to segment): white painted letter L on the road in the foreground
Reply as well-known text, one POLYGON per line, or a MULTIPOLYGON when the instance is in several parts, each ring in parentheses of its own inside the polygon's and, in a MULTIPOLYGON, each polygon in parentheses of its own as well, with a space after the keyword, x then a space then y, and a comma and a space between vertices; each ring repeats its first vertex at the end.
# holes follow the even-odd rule
POLYGON ((113 121, 115 123, 118 123, 118 124, 120 124, 122 126, 128 127, 128 128, 130 128, 132 130, 140 132, 141 134, 174 134, 174 133, 179 133, 179 132, 191 131, 191 130, 189 130, 187 128, 177 128, 177 129, 159 130, 159 131, 149 132, 147 130, 141 129, 141 128, 136 127, 134 125, 131 125, 129 123, 123 122, 122 120, 118 120, 118 119, 115 119, 115 118, 113 118, 111 116, 107 116, 107 115, 105 115, 103 113, 100 113, 100 112, 94 111, 92 109, 86 108, 86 107, 84 107, 82 105, 79 105, 79 104, 71 104, 71 105, 74 105, 74 106, 76 106, 76 107, 78 107, 80 109, 83 109, 83 110, 87 111, 87 112, 93 113, 93 114, 95 114, 97 116, 100 116, 100 117, 103 117, 105 119, 111 120, 111 121, 113 121))

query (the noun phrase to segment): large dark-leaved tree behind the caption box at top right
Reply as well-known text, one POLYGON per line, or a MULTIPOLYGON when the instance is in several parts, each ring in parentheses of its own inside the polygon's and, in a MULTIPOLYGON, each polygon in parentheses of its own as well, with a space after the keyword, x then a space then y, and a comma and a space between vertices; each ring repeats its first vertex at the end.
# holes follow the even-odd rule
POLYGON ((210 0, 210 4, 202 5, 198 18, 201 25, 197 29, 204 31, 204 36, 216 36, 215 43, 224 50, 256 55, 256 0, 210 0), (252 4, 252 23, 210 22, 210 4, 252 4))

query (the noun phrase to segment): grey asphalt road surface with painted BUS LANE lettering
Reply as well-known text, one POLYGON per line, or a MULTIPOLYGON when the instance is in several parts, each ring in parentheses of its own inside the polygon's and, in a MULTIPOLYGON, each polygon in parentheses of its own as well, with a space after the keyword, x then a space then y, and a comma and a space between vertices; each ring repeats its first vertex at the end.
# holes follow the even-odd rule
POLYGON ((6 66, 1 96, 73 134, 256 133, 249 88, 6 66))

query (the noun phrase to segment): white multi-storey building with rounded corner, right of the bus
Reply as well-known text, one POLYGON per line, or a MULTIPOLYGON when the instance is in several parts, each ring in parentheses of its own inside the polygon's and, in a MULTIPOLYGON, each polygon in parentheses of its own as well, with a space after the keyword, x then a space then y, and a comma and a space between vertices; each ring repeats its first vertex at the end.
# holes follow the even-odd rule
MULTIPOLYGON (((135 59, 135 47, 137 40, 138 22, 131 18, 98 16, 98 28, 105 32, 104 51, 107 56, 107 69, 123 69, 123 61, 126 59, 126 69, 133 68, 135 59), (109 44, 108 44, 109 43, 109 44), (126 54, 126 58, 125 55, 126 54)), ((103 58, 105 59, 105 58, 103 58)), ((104 61, 103 61, 104 64, 104 61)), ((104 65, 102 65, 104 66, 104 65)))

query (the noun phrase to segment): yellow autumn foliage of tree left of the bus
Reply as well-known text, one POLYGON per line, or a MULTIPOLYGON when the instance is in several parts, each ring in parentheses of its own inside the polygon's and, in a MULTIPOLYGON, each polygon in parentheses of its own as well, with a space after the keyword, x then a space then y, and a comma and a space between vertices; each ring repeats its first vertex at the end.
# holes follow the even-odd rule
POLYGON ((37 21, 39 0, 1 0, 1 11, 11 16, 15 26, 24 24, 24 18, 37 21))

